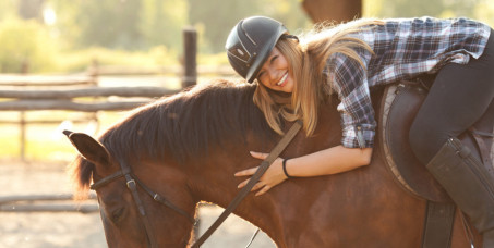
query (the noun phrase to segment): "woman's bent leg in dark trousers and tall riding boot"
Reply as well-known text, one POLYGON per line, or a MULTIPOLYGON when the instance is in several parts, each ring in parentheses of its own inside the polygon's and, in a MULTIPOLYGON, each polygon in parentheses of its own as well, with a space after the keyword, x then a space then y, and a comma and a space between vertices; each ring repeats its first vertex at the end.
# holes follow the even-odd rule
POLYGON ((410 129, 415 156, 483 234, 484 248, 494 247, 494 178, 456 137, 494 99, 493 35, 479 60, 441 70, 410 129))

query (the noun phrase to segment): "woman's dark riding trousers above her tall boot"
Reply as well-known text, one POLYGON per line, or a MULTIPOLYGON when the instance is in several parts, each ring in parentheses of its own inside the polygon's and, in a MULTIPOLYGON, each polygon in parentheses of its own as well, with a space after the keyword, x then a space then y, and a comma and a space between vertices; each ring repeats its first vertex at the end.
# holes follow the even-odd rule
MULTIPOLYGON (((446 140, 473 125, 494 99, 494 30, 482 55, 439 70, 410 129, 410 145, 427 164, 446 140)), ((494 117, 494 116, 493 116, 494 117)))

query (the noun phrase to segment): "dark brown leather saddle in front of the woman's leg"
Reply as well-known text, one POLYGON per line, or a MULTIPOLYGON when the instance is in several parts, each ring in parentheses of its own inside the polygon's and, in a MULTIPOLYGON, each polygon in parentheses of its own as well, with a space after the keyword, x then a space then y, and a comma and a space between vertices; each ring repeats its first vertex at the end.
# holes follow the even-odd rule
POLYGON ((426 94, 415 83, 387 86, 378 116, 378 140, 387 168, 406 191, 435 202, 450 202, 446 191, 415 158, 409 145, 410 126, 426 94))

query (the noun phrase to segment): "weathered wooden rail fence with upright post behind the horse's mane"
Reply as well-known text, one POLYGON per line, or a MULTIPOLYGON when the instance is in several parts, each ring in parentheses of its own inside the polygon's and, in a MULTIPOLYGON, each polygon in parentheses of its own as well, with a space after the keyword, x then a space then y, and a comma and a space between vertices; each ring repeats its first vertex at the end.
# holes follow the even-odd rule
MULTIPOLYGON (((0 111, 19 111, 19 120, 0 120, 0 124, 20 126, 20 157, 25 160, 26 126, 28 124, 59 124, 96 122, 99 111, 123 111, 142 106, 152 99, 178 92, 180 89, 164 87, 100 87, 99 79, 106 75, 168 75, 181 77, 182 88, 197 82, 197 74, 233 75, 229 66, 206 67, 196 64, 196 32, 183 29, 182 67, 132 69, 122 66, 99 66, 95 60, 88 70, 79 76, 0 76, 0 111), (198 72, 197 72, 198 71, 198 72), (118 97, 118 100, 113 100, 118 97), (137 99, 136 99, 137 98, 137 99), (110 100, 112 99, 112 100, 110 100), (27 111, 64 110, 81 112, 83 116, 73 120, 26 120, 27 111)), ((28 67, 28 66, 24 66, 28 67)))

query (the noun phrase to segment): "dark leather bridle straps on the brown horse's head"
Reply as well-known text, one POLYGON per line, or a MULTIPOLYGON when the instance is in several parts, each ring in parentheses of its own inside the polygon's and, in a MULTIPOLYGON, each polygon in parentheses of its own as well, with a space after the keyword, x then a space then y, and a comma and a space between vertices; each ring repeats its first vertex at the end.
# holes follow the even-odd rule
POLYGON ((191 216, 188 212, 183 211, 182 209, 178 208, 173 203, 171 203, 169 200, 166 198, 161 197, 159 194, 150 190, 149 187, 147 187, 142 181, 137 178, 132 172, 130 166, 125 162, 120 162, 120 168, 121 170, 107 176, 104 177, 103 179, 94 183, 91 185, 91 189, 96 190, 98 188, 105 187, 106 185, 115 182, 116 179, 120 177, 125 177, 126 181, 126 187, 131 190, 132 198, 134 199, 135 204, 137 206, 138 213, 141 214, 141 220, 144 224, 144 228, 146 231, 146 236, 147 236, 147 241, 150 244, 152 248, 157 248, 157 239, 155 236, 155 233, 153 232, 149 219, 146 215, 146 209, 144 208, 143 201, 141 200, 141 197, 138 196, 137 193, 137 185, 141 186, 141 188, 144 189, 155 201, 167 206, 168 208, 174 210, 176 212, 184 215, 193 225, 195 225, 195 219, 191 216))

